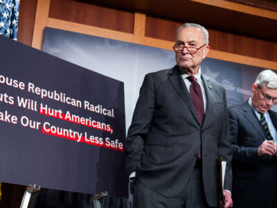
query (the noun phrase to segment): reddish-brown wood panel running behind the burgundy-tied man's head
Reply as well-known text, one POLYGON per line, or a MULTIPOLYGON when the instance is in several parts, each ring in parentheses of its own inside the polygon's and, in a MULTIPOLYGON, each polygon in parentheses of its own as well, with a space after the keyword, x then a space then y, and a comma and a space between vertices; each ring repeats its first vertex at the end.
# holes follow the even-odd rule
MULTIPOLYGON (((175 21, 146 17, 145 36, 174 42, 177 28, 181 25, 175 21)), ((207 29, 213 50, 277 62, 277 42, 207 29)))

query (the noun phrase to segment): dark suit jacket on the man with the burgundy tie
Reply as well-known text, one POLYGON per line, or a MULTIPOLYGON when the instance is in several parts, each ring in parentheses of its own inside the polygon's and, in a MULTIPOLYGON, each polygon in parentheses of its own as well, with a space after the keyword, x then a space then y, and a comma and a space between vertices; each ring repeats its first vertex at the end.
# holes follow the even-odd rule
MULTIPOLYGON (((186 187, 202 143, 204 192, 217 205, 216 159, 231 162, 225 89, 202 76, 206 114, 199 125, 195 107, 177 66, 145 76, 127 135, 127 172, 163 196, 175 197, 186 187), (208 87, 210 86, 210 87, 208 87)), ((231 190, 231 168, 224 189, 231 190)))

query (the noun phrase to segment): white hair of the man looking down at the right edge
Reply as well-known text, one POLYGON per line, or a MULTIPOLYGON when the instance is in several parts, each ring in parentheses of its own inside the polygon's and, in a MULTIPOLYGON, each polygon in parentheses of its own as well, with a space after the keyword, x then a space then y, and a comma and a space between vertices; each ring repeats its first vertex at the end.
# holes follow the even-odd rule
POLYGON ((255 84, 260 87, 265 85, 271 89, 277 89, 277 74, 270 69, 261 71, 255 80, 255 84))

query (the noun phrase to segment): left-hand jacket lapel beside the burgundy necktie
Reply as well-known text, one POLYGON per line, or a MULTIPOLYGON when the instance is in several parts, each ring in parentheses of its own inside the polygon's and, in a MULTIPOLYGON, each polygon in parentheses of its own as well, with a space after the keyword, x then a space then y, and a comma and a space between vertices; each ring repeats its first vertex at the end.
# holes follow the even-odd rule
POLYGON ((198 118, 197 118, 197 114, 195 112, 195 107, 193 105, 193 101, 191 101, 191 98, 190 98, 190 93, 188 92, 188 89, 186 88, 186 85, 184 83, 183 78, 181 77, 181 73, 180 73, 177 65, 171 69, 170 73, 168 73, 168 78, 169 78, 170 82, 172 83, 173 87, 178 92, 179 96, 181 96, 184 103, 186 103, 186 105, 188 106, 188 109, 195 117, 195 120, 197 121, 197 123, 200 125, 198 118))

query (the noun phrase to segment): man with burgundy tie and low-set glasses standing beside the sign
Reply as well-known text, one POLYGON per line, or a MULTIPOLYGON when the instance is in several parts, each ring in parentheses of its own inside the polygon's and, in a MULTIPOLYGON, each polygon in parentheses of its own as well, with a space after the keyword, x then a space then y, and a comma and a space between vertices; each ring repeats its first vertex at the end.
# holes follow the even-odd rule
MULTIPOLYGON (((216 160, 231 163, 231 141, 225 90, 199 67, 208 31, 184 24, 173 49, 175 67, 145 76, 127 135, 134 208, 217 207, 216 160)), ((227 166, 224 189, 231 191, 231 180, 227 166)))

